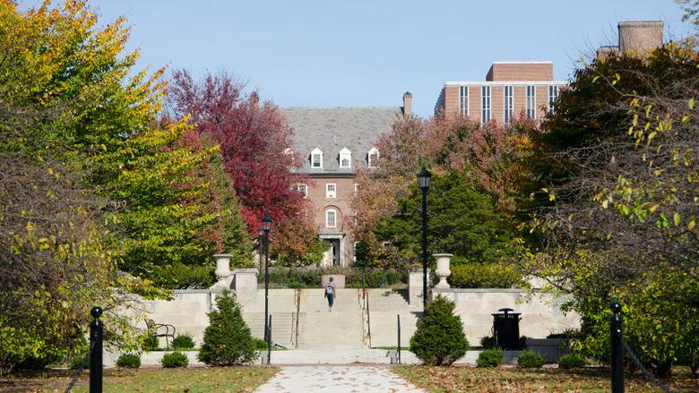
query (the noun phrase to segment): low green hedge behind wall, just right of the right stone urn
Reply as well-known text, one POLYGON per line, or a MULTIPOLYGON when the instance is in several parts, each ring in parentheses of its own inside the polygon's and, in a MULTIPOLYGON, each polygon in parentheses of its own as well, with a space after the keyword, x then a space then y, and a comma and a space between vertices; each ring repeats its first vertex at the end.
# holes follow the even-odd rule
POLYGON ((457 288, 511 288, 522 285, 522 273, 502 263, 466 263, 451 268, 449 284, 457 288))

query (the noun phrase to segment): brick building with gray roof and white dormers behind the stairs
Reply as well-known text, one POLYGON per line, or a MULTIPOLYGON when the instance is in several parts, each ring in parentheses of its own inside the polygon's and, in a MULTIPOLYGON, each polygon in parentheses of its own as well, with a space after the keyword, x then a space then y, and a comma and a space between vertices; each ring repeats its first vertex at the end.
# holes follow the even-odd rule
POLYGON ((281 111, 294 128, 294 150, 304 158, 297 170, 310 181, 297 190, 311 201, 318 234, 330 245, 323 264, 348 266, 354 261, 350 231, 351 199, 361 184, 358 168, 371 169, 381 153, 374 143, 391 124, 410 115, 412 96, 403 107, 286 107, 281 111))

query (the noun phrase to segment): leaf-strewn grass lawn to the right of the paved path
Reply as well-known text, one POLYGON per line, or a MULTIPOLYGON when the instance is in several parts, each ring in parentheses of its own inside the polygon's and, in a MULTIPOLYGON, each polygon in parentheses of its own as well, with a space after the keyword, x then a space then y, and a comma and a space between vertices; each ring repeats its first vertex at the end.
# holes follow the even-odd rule
MULTIPOLYGON (((393 369, 406 380, 430 392, 604 392, 609 386, 609 373, 602 369, 565 371, 557 369, 522 370, 500 367, 479 369, 468 367, 396 366, 393 369)), ((673 370, 672 380, 665 380, 678 392, 699 392, 699 380, 687 368, 673 370)), ((660 392, 640 374, 626 374, 626 392, 660 392)))

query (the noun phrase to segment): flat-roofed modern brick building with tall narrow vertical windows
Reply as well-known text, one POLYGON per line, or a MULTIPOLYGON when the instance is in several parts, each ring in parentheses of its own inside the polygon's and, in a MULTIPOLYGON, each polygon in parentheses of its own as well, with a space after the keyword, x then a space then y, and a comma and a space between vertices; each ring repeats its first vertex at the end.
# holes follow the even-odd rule
POLYGON ((444 82, 435 115, 464 115, 480 124, 509 123, 522 112, 539 119, 565 85, 554 81, 551 62, 495 62, 485 81, 444 82))

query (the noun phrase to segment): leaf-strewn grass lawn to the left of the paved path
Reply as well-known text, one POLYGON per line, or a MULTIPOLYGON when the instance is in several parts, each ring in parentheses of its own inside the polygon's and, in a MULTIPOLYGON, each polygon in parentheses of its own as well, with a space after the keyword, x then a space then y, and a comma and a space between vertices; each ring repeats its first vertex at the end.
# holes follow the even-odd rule
MULTIPOLYGON (((263 366, 190 369, 105 370, 104 391, 115 392, 252 392, 279 369, 263 366)), ((0 379, 0 392, 63 392, 72 372, 53 371, 0 379)), ((75 393, 88 392, 88 374, 83 373, 75 393)))

